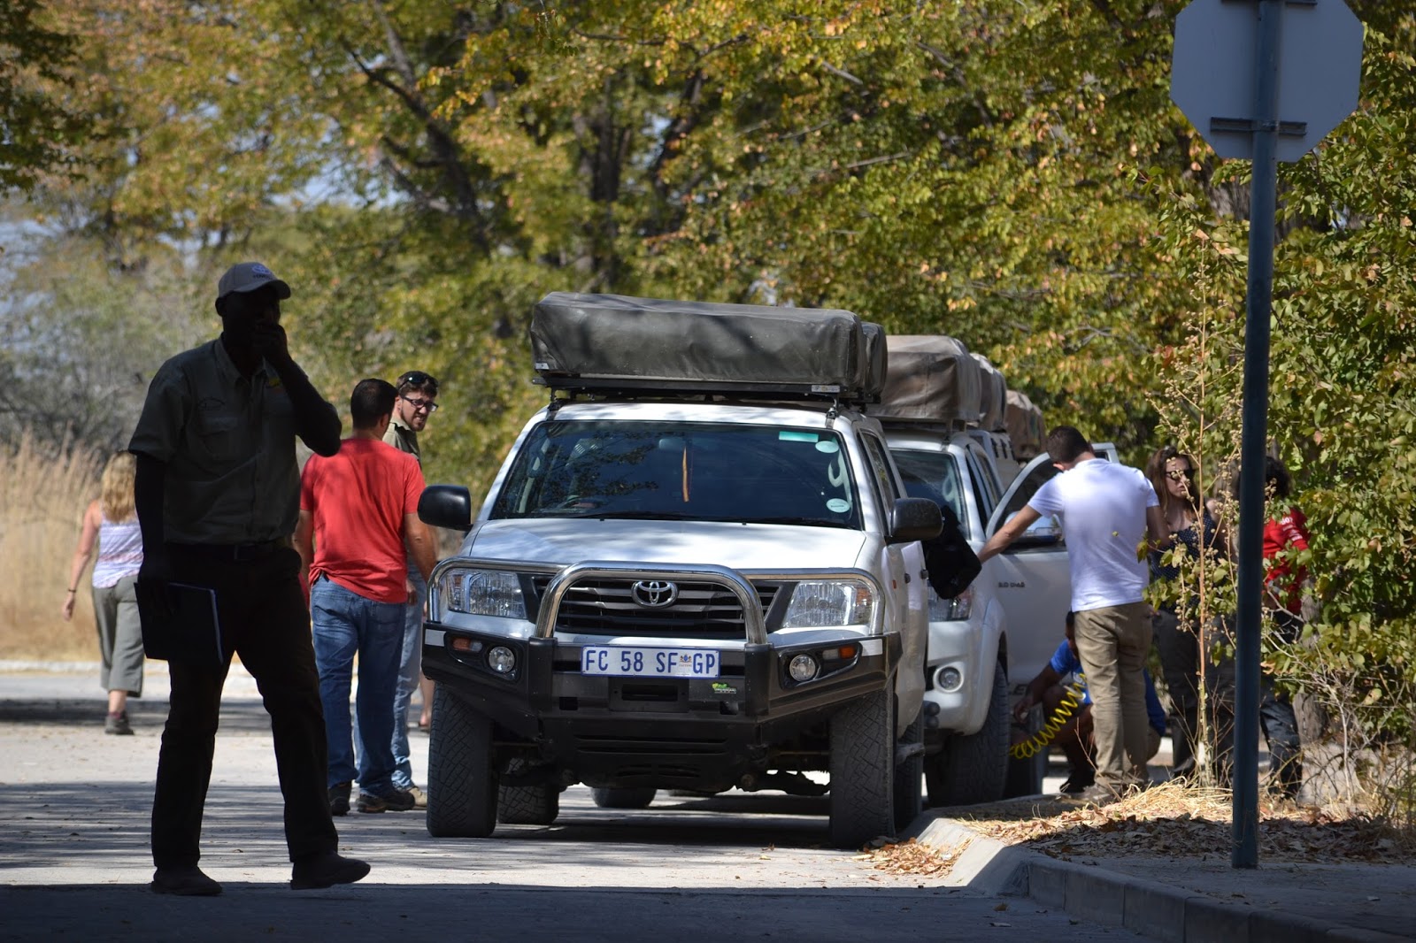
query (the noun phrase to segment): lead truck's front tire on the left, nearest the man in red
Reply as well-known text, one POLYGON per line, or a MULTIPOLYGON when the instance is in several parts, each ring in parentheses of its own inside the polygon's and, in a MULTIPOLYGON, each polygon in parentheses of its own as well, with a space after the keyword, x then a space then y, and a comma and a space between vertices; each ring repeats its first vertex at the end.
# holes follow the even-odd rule
POLYGON ((428 732, 428 834, 486 838, 497 827, 491 718, 439 684, 428 732))

